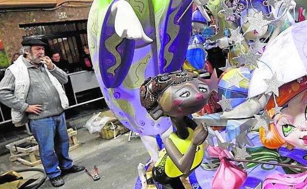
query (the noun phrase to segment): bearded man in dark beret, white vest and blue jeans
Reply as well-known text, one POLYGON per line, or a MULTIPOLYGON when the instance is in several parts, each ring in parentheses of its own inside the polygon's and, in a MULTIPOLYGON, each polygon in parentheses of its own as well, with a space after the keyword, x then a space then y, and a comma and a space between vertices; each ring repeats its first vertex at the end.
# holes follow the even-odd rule
POLYGON ((61 83, 67 74, 45 56, 46 44, 23 40, 21 53, 7 68, 0 82, 0 102, 12 108, 15 126, 29 122, 38 142, 45 172, 54 187, 64 185, 61 174, 79 172, 84 166, 72 164, 64 108, 68 107, 61 83))

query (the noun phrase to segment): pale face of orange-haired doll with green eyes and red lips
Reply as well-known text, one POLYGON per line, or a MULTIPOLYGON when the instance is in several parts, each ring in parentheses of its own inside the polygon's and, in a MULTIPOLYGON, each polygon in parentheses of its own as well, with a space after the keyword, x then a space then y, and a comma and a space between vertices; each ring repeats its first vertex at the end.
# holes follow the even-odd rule
POLYGON ((298 148, 307 149, 307 93, 301 92, 291 99, 288 107, 281 110, 285 116, 278 120, 276 127, 279 135, 298 148))

